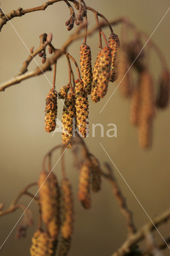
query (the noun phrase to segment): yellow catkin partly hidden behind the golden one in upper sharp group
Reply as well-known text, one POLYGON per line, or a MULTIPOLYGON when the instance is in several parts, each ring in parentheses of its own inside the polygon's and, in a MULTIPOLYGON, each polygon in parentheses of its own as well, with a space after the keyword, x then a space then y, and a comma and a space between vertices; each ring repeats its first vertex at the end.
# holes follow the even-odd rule
POLYGON ((92 82, 92 88, 91 88, 91 100, 93 100, 94 103, 98 102, 100 100, 100 97, 97 94, 97 80, 99 75, 99 60, 101 56, 101 51, 98 52, 97 58, 95 61, 95 65, 93 68, 93 82, 92 82))

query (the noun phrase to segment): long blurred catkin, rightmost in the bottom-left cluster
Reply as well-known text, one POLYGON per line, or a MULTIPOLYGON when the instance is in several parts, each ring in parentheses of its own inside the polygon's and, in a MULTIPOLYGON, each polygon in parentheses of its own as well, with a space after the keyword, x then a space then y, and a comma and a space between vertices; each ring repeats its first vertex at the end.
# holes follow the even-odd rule
POLYGON ((64 178, 61 181, 61 244, 59 256, 66 256, 71 246, 73 234, 73 192, 71 182, 64 178))

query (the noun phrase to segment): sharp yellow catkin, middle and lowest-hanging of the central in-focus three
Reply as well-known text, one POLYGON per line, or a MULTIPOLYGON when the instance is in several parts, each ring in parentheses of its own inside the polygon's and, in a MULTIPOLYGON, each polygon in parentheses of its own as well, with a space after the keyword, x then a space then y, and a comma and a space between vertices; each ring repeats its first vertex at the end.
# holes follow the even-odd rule
POLYGON ((75 94, 67 94, 64 104, 62 115, 62 140, 65 147, 72 148, 73 143, 70 139, 73 137, 73 118, 76 117, 75 94))

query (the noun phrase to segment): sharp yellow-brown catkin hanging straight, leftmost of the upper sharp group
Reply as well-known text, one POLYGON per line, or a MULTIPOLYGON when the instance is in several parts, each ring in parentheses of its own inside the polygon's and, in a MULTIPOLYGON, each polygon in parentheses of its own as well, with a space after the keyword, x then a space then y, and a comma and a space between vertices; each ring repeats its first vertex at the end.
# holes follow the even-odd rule
POLYGON ((80 68, 85 91, 87 94, 91 94, 91 84, 93 79, 91 50, 90 46, 85 43, 80 46, 80 68))

